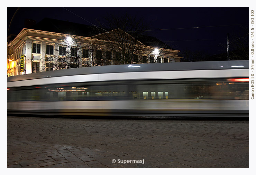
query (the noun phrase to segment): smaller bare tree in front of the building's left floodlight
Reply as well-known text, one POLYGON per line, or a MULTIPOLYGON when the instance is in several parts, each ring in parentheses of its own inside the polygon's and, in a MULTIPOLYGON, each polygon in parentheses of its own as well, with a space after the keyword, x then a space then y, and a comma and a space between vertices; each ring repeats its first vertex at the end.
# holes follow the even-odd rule
POLYGON ((46 71, 103 65, 103 56, 99 44, 76 35, 63 35, 59 40, 54 50, 53 46, 46 45, 45 62, 43 64, 43 69, 46 71), (100 55, 98 52, 100 52, 100 55))

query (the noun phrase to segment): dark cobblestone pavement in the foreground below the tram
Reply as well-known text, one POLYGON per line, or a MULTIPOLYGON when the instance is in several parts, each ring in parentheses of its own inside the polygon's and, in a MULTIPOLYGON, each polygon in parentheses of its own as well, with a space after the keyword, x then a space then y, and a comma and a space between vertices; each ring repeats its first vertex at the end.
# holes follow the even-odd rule
POLYGON ((249 168, 249 121, 8 116, 7 167, 249 168))

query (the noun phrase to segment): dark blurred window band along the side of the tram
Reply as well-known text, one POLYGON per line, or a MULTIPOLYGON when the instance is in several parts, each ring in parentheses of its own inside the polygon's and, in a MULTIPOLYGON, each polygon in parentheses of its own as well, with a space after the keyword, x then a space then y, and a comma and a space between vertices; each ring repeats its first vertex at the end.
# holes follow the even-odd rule
POLYGON ((248 100, 248 82, 223 79, 90 82, 11 88, 8 101, 77 100, 248 100))

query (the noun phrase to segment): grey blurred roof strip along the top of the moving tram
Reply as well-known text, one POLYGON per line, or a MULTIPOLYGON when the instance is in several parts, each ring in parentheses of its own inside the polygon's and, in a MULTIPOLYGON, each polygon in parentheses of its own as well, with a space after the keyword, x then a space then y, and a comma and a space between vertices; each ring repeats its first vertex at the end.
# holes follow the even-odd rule
POLYGON ((60 77, 60 76, 71 76, 71 75, 86 75, 86 74, 104 74, 104 73, 117 73, 117 72, 119 73, 119 72, 143 72, 143 71, 213 70, 213 69, 248 69, 248 68, 249 68, 249 60, 111 65, 111 66, 95 66, 95 67, 61 69, 61 70, 38 72, 38 73, 26 74, 26 75, 18 75, 18 76, 7 77, 7 82, 47 78, 47 77, 60 77), (244 67, 239 67, 239 66, 244 66, 244 67))

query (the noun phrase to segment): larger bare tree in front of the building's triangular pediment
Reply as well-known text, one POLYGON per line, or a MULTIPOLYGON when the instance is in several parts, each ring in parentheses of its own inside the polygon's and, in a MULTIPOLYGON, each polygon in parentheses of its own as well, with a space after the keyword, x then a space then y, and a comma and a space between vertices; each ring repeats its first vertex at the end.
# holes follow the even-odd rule
MULTIPOLYGON (((154 47, 147 46, 139 41, 145 38, 143 34, 148 29, 142 18, 138 19, 125 14, 123 16, 110 15, 105 20, 105 25, 100 24, 100 26, 106 30, 92 38, 100 39, 106 50, 113 53, 112 60, 114 64, 143 63, 145 57, 149 62, 150 55, 158 58, 150 61, 154 63, 159 62, 159 58, 165 55, 163 48, 158 48, 158 52, 154 52, 154 47)), ((157 44, 155 43, 155 45, 157 44)), ((108 58, 108 55, 106 57, 108 58)))

